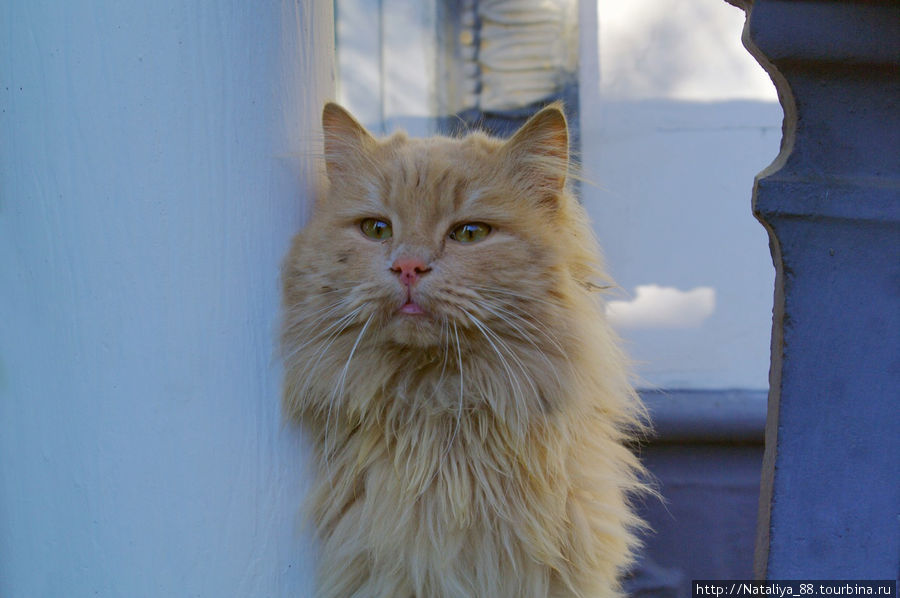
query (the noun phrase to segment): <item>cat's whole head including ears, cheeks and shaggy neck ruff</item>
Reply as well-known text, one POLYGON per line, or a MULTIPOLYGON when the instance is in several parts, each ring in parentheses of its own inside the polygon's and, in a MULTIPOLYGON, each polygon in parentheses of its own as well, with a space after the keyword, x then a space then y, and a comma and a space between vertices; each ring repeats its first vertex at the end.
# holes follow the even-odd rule
POLYGON ((525 421, 577 359, 612 350, 584 349, 608 338, 589 292, 605 279, 559 105, 507 141, 376 139, 336 104, 323 130, 328 188, 283 272, 292 413, 390 388, 525 421))

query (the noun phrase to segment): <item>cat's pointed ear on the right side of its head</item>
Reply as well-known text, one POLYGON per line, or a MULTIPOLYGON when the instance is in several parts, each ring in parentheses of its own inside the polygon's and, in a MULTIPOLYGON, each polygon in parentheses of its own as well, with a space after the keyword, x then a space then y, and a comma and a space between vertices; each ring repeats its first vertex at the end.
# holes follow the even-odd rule
POLYGON ((537 191, 557 194, 569 170, 569 127, 562 104, 532 116, 503 147, 515 178, 537 191))

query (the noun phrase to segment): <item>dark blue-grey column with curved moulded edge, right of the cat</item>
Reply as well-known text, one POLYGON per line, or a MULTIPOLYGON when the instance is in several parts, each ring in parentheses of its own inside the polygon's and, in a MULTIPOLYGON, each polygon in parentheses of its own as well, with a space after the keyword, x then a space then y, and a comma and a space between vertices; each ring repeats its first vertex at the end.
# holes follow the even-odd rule
POLYGON ((900 5, 747 0, 785 111, 754 211, 777 270, 756 574, 900 564, 900 5))

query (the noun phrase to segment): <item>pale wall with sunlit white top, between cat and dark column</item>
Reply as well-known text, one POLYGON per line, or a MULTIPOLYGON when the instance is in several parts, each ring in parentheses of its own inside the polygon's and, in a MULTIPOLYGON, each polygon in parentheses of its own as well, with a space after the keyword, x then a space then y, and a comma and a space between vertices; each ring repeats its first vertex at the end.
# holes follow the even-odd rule
POLYGON ((599 68, 590 43, 582 53, 583 200, 620 286, 609 315, 643 385, 764 389, 774 270, 750 196, 782 112, 740 43, 744 13, 716 0, 596 10, 583 10, 599 21, 599 68))

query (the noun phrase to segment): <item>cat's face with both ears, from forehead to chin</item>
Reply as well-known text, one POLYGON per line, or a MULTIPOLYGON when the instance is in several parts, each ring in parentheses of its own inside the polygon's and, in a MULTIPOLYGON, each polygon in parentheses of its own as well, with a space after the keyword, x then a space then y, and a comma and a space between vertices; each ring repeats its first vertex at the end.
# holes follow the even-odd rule
POLYGON ((558 108, 508 142, 376 140, 334 104, 323 127, 330 185, 288 258, 289 308, 324 330, 418 348, 535 334, 573 234, 558 108))

